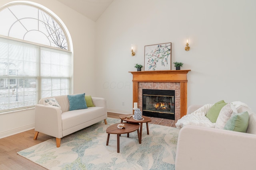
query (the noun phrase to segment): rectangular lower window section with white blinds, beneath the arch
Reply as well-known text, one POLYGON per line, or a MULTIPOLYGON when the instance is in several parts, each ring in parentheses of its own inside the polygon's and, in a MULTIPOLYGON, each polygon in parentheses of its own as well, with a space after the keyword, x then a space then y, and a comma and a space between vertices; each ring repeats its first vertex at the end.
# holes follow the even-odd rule
POLYGON ((0 111, 70 93, 70 52, 0 38, 0 111))

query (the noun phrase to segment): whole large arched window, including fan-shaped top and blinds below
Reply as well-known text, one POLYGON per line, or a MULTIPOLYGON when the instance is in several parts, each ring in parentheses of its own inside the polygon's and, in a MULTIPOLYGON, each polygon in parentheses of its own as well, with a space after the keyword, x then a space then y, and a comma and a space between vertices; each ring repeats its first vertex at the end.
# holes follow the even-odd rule
POLYGON ((9 3, 0 8, 0 23, 0 113, 70 94, 70 45, 50 11, 9 3))

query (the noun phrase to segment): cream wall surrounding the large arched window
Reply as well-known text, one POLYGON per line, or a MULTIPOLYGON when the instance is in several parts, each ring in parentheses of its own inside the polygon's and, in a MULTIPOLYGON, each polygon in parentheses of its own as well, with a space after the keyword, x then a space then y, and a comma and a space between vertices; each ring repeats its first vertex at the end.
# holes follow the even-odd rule
MULTIPOLYGON (((73 43, 74 94, 86 93, 96 96, 94 87, 94 21, 82 16, 56 0, 31 0, 54 12, 66 25, 73 43)), ((12 2, 1 0, 0 7, 12 2)), ((34 109, 0 115, 0 138, 34 128, 34 109)))

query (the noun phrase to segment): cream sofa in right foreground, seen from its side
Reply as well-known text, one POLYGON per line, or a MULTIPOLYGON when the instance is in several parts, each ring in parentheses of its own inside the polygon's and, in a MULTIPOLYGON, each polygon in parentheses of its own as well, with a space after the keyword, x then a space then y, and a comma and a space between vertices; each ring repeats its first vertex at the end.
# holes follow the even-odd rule
MULTIPOLYGON (((202 106, 188 107, 187 114, 202 106)), ((246 133, 186 125, 180 129, 175 170, 256 170, 256 114, 248 111, 246 133)))

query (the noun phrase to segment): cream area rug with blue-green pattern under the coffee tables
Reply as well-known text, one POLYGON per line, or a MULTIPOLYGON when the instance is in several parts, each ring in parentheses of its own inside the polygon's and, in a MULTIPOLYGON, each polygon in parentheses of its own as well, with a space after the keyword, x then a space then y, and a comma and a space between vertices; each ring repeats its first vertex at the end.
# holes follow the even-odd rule
POLYGON ((137 131, 120 137, 117 153, 117 135, 110 134, 106 146, 106 129, 120 119, 108 118, 61 139, 56 147, 52 138, 18 152, 19 155, 49 170, 174 170, 179 130, 162 125, 143 123, 142 143, 137 131))

